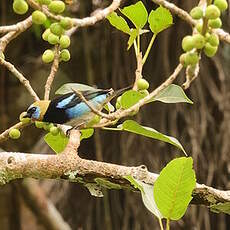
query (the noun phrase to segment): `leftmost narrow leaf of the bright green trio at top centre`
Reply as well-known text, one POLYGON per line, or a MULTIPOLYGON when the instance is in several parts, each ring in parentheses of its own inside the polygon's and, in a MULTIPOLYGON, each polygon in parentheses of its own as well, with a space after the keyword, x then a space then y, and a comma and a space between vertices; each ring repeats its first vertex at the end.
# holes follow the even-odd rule
POLYGON ((110 24, 117 28, 118 30, 123 31, 126 34, 130 34, 130 28, 124 18, 118 16, 117 13, 113 12, 106 17, 110 24))

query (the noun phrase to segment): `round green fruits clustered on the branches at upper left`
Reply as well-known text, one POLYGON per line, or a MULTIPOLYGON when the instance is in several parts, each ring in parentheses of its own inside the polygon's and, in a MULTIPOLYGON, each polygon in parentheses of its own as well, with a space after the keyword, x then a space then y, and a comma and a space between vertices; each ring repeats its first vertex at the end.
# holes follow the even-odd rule
MULTIPOLYGON (((36 0, 40 5, 47 5, 50 12, 54 14, 61 14, 65 10, 65 3, 60 0, 36 0)), ((28 4, 25 0, 14 0, 13 10, 17 14, 25 14, 28 11, 28 4)), ((34 24, 43 25, 47 21, 47 16, 40 10, 35 10, 32 13, 32 21, 34 24)), ((60 22, 53 22, 42 34, 42 38, 51 45, 59 44, 60 60, 69 61, 70 52, 70 38, 65 35, 65 31, 72 27, 72 20, 68 17, 62 18, 60 22)), ((54 52, 51 49, 45 50, 42 55, 42 60, 45 63, 50 63, 54 60, 54 52)))

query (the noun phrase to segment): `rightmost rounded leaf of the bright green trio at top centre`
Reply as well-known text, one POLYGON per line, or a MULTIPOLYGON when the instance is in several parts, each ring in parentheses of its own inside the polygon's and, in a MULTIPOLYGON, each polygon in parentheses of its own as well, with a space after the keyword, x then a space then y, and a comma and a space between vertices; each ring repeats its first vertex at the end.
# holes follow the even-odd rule
POLYGON ((168 9, 160 6, 150 12, 148 22, 151 31, 154 34, 158 34, 172 25, 173 18, 168 9))

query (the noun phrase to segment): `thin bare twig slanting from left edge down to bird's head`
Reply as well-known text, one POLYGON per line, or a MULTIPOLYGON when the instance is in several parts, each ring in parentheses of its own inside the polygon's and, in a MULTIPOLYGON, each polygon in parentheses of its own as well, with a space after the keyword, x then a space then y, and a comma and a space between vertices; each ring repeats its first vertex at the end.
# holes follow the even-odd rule
POLYGON ((0 64, 4 65, 16 78, 18 78, 35 101, 39 101, 39 97, 31 87, 30 82, 14 67, 13 64, 5 61, 3 58, 0 58, 0 64))

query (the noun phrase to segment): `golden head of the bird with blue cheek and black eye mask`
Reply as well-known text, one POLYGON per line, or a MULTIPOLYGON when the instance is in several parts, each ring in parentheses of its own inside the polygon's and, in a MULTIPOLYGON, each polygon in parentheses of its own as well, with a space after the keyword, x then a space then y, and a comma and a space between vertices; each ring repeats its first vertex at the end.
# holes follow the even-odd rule
POLYGON ((50 101, 41 100, 36 101, 27 109, 24 118, 31 118, 32 120, 42 121, 43 117, 49 107, 50 101))

